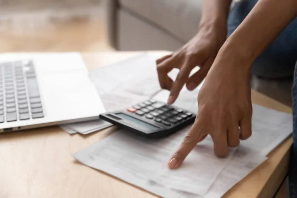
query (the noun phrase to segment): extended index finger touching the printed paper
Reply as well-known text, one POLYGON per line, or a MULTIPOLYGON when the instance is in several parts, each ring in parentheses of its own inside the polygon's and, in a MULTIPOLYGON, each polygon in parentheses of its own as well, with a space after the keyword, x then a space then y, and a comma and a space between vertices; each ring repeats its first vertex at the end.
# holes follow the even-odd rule
POLYGON ((188 154, 193 150, 193 148, 202 141, 207 134, 202 133, 201 128, 198 124, 192 126, 186 137, 183 139, 180 147, 175 151, 171 157, 168 167, 175 169, 181 166, 188 154))

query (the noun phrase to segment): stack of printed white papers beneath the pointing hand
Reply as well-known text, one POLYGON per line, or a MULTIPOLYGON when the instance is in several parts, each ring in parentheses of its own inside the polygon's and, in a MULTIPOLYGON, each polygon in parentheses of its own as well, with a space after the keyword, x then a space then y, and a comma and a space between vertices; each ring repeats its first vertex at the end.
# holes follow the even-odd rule
MULTIPOLYGON (((185 99, 188 103, 189 97, 193 102, 197 100, 195 93, 188 93, 181 94, 178 102, 183 104, 185 99)), ((292 115, 255 104, 253 112, 252 137, 231 149, 225 159, 214 155, 208 137, 193 149, 179 169, 169 170, 167 162, 189 127, 160 140, 145 139, 122 129, 73 157, 162 197, 219 198, 292 133, 292 115)))

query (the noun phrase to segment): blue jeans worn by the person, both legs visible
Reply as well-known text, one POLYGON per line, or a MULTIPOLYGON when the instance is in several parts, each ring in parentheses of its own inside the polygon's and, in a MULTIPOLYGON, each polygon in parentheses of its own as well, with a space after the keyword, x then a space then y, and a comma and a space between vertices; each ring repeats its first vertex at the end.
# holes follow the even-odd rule
MULTIPOLYGON (((257 0, 241 0, 231 9, 228 17, 228 37, 242 23, 257 0)), ((297 18, 252 64, 251 73, 266 79, 293 77, 294 142, 289 167, 290 198, 297 198, 297 18), (296 65, 296 66, 295 66, 296 65), (294 73, 295 71, 295 73, 294 73)))

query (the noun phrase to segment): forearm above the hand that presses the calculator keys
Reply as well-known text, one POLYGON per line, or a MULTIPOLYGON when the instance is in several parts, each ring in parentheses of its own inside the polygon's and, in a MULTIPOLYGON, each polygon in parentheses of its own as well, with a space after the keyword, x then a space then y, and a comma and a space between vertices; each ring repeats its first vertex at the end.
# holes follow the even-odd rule
POLYGON ((203 0, 199 30, 215 34, 220 47, 227 36, 227 18, 232 0, 203 0))

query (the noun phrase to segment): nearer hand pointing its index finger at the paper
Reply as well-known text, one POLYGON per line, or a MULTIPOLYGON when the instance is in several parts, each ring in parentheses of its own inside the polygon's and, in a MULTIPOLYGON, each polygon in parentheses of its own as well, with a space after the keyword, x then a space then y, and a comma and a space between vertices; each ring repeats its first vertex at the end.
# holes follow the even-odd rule
POLYGON ((235 52, 219 52, 198 94, 198 114, 180 148, 168 163, 178 168, 208 134, 218 157, 251 135, 250 60, 235 52), (240 127, 240 129, 239 129, 240 127))

